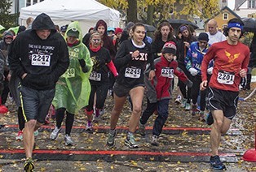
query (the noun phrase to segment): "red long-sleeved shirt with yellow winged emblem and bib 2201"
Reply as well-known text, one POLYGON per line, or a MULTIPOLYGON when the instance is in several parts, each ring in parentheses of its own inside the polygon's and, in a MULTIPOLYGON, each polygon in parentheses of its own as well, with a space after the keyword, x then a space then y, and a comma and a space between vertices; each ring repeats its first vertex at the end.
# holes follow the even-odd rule
POLYGON ((209 86, 238 92, 241 81, 239 72, 241 69, 247 71, 249 48, 241 42, 229 45, 227 41, 222 41, 211 45, 201 65, 202 80, 207 80, 207 67, 211 59, 214 59, 214 70, 209 86))

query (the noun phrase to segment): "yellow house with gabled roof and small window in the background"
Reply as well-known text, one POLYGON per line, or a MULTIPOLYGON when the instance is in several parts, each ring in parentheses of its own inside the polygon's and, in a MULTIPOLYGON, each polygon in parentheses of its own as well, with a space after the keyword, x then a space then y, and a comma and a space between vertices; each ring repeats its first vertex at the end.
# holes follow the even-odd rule
MULTIPOLYGON (((215 19, 218 24, 218 30, 222 31, 223 28, 225 28, 227 26, 228 20, 230 20, 232 18, 241 19, 241 17, 239 15, 237 15, 234 11, 232 11, 229 7, 224 6, 223 9, 221 9, 216 15, 214 15, 214 17, 212 17, 210 19, 215 19)), ((206 32, 207 32, 206 24, 210 19, 207 19, 205 21, 205 31, 206 32)))

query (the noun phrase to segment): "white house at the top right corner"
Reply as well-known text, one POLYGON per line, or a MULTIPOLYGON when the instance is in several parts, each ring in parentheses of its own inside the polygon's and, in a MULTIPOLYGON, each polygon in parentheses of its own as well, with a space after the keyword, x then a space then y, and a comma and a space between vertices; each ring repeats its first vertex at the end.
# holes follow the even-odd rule
POLYGON ((256 0, 236 0, 234 12, 241 18, 251 17, 256 13, 256 0))

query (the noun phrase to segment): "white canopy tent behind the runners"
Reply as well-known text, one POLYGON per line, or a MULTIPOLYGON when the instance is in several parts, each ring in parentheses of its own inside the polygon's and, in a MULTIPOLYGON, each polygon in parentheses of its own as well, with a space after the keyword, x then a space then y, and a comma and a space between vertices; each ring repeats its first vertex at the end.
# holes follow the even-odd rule
POLYGON ((36 18, 42 12, 49 15, 55 24, 63 26, 71 21, 79 21, 83 35, 89 28, 95 27, 99 19, 104 19, 108 27, 119 27, 120 13, 95 0, 44 0, 20 10, 20 24, 26 25, 26 19, 36 18))

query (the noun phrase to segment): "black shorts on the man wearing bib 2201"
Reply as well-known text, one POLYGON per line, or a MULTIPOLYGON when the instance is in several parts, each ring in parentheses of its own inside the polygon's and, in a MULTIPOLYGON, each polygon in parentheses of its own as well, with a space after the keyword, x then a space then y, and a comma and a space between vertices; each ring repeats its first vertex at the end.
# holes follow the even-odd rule
POLYGON ((209 110, 223 110, 225 117, 232 119, 236 115, 239 92, 209 87, 207 106, 209 110))

